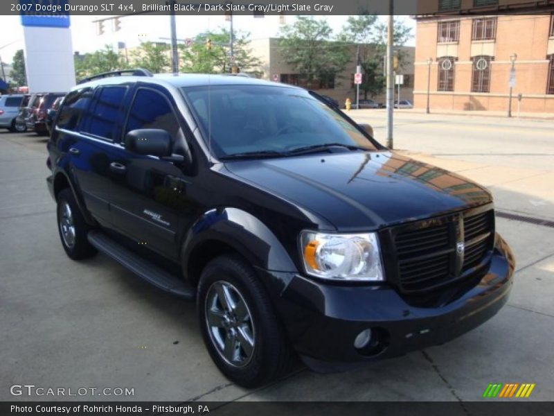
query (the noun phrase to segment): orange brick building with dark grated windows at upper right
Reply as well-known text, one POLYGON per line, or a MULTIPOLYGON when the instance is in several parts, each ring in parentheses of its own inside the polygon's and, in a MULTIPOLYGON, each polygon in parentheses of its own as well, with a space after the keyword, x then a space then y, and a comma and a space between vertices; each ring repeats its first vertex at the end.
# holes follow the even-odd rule
POLYGON ((521 1, 427 3, 416 17, 415 107, 507 112, 511 87, 512 112, 554 113, 552 12, 521 1))

